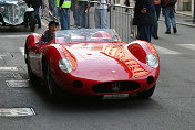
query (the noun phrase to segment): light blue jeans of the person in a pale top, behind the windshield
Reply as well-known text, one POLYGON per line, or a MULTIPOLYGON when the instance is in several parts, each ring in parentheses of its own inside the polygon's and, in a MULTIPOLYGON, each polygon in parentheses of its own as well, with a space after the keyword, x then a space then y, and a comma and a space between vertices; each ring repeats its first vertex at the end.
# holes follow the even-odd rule
POLYGON ((96 29, 107 29, 107 10, 106 9, 95 9, 95 28, 96 29))

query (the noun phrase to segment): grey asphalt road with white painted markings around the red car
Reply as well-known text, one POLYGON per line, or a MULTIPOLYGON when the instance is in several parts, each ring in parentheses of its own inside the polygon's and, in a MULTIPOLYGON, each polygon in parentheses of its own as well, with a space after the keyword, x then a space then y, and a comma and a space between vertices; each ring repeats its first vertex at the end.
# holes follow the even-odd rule
MULTIPOLYGON (((45 29, 42 25, 35 32, 45 29)), ((152 40, 160 54, 161 73, 150 99, 66 98, 52 104, 41 85, 34 87, 28 82, 23 46, 31 32, 23 26, 0 28, 0 130, 194 130, 195 29, 177 29, 177 34, 166 35, 160 22, 160 40, 152 40), (13 110, 10 113, 4 108, 13 110), (31 111, 18 112, 16 108, 31 111), (18 116, 6 116, 9 113, 18 116)))

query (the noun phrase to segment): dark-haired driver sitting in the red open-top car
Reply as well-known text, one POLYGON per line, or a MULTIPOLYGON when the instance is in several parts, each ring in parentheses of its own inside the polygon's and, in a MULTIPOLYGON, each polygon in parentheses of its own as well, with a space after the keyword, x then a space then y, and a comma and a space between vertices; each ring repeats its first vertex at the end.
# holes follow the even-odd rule
POLYGON ((59 31, 59 23, 50 21, 48 28, 49 30, 47 30, 41 37, 41 44, 47 44, 55 37, 55 32, 59 31))

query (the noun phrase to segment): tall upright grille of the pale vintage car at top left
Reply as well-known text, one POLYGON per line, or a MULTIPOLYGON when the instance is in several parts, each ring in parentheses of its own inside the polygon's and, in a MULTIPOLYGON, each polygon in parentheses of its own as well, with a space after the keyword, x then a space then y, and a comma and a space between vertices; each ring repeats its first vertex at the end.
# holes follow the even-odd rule
POLYGON ((10 4, 8 7, 9 21, 16 24, 19 21, 20 9, 17 4, 10 4))

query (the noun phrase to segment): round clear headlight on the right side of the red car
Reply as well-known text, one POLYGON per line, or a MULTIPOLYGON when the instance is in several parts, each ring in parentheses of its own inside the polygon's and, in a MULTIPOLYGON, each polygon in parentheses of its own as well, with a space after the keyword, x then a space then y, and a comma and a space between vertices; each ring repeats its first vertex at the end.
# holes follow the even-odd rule
POLYGON ((158 58, 156 55, 154 54, 147 54, 146 56, 146 62, 147 64, 153 67, 153 68, 157 68, 160 63, 158 63, 158 58))

